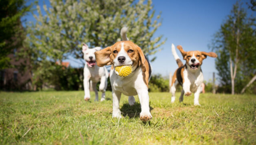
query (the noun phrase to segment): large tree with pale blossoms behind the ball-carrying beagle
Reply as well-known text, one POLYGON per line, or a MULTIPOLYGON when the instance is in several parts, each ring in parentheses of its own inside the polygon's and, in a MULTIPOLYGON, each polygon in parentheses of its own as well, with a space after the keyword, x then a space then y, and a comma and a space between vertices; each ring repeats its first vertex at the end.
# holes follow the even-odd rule
POLYGON ((154 17, 151 0, 50 0, 50 5, 43 6, 45 16, 37 6, 36 23, 29 24, 30 49, 24 55, 34 62, 34 70, 47 61, 81 59, 83 42, 89 47, 113 45, 120 41, 123 26, 129 27, 128 37, 145 55, 156 53, 165 42, 162 35, 153 37, 161 22, 160 15, 154 17))

